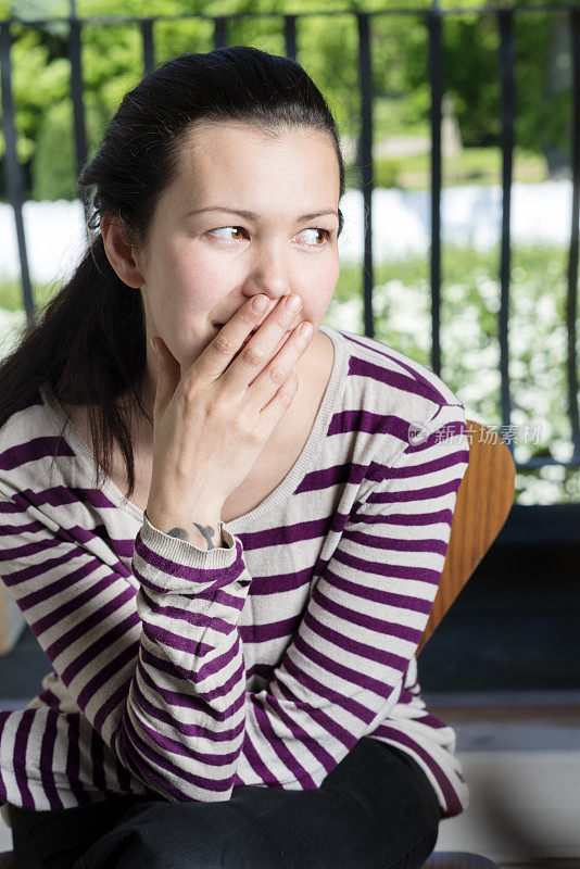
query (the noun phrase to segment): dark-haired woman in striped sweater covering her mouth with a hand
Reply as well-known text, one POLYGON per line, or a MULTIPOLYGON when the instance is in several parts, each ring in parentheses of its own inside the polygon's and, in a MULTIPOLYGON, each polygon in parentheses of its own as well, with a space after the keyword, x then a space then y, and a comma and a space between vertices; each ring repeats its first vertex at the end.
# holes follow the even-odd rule
POLYGON ((100 231, 0 371, 1 572, 53 667, 0 719, 18 865, 418 869, 468 801, 415 658, 465 412, 321 325, 328 106, 184 54, 79 186, 100 231))

